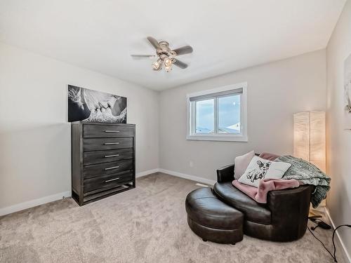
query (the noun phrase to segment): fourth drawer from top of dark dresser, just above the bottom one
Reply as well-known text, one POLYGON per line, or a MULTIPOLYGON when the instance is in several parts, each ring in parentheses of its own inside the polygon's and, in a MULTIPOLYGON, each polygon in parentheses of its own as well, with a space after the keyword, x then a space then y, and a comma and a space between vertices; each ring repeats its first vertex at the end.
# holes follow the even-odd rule
POLYGON ((85 179, 132 169, 133 160, 113 161, 110 163, 99 163, 92 164, 91 166, 84 166, 83 176, 85 179))

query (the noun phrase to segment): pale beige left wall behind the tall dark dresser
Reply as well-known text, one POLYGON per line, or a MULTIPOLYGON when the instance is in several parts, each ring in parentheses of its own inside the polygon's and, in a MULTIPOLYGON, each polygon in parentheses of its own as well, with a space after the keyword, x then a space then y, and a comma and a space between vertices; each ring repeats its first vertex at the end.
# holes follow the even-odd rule
POLYGON ((1 43, 0 72, 0 210, 70 191, 67 84, 126 96, 136 172, 159 167, 157 92, 1 43))

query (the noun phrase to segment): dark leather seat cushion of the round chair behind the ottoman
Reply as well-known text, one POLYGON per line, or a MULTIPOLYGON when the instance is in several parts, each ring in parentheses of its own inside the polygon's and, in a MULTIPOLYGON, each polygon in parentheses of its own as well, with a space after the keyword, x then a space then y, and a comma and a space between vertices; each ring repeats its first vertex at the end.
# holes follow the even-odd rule
POLYGON ((217 182, 213 193, 223 202, 231 205, 245 215, 245 220, 258 224, 271 224, 271 213, 265 204, 260 204, 235 188, 232 182, 217 182))

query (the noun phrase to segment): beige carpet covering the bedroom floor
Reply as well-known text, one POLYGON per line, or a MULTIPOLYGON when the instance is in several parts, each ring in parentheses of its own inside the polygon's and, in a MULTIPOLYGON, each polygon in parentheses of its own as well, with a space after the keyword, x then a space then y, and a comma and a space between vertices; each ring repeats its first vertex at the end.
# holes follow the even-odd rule
MULTIPOLYGON (((204 243, 186 222, 196 188, 156 173, 83 207, 68 198, 0 217, 0 262, 333 262, 308 231, 292 243, 204 243)), ((331 248, 331 231, 316 234, 331 248)))

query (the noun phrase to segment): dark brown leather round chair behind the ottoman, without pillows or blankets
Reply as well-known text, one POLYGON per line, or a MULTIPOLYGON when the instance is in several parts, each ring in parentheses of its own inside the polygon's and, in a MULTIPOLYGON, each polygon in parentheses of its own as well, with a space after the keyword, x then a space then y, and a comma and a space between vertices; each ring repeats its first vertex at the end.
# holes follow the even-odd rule
POLYGON ((270 191, 267 203, 260 204, 232 185, 234 165, 217 170, 213 194, 244 213, 244 234, 270 241, 294 241, 307 228, 313 187, 270 191))

